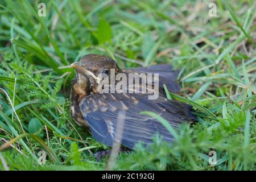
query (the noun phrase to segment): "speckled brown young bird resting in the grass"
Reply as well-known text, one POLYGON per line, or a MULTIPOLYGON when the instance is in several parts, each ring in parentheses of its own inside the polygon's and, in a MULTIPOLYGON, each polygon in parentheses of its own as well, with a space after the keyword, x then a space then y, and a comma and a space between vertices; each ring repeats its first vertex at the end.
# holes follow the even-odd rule
MULTIPOLYGON (((152 143, 156 133, 171 142, 174 137, 157 119, 140 114, 141 111, 154 111, 177 128, 181 123, 195 121, 191 114, 191 106, 167 100, 163 84, 171 92, 179 92, 175 80, 177 71, 167 64, 154 65, 148 68, 121 70, 118 64, 104 55, 85 55, 79 62, 71 64, 76 71, 71 89, 71 116, 79 126, 85 126, 92 131, 93 137, 107 146, 119 142, 133 149, 135 143, 146 145, 152 143), (100 73, 159 73, 159 97, 148 100, 146 93, 99 93, 97 86, 101 79, 100 73), (119 125, 122 124, 122 127, 119 125)), ((153 83, 154 85, 154 83, 153 83)), ((154 85, 155 86, 155 85, 154 85)), ((142 86, 139 85, 139 90, 142 86)), ((134 88, 133 88, 134 89, 134 88)))

